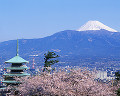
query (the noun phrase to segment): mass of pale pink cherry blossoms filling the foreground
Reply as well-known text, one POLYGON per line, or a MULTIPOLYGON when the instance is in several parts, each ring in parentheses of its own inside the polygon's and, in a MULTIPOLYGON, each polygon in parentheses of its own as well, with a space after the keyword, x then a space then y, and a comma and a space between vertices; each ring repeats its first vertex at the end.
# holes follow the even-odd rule
POLYGON ((95 73, 85 69, 60 69, 50 75, 22 78, 20 96, 116 96, 116 86, 95 81, 95 73))

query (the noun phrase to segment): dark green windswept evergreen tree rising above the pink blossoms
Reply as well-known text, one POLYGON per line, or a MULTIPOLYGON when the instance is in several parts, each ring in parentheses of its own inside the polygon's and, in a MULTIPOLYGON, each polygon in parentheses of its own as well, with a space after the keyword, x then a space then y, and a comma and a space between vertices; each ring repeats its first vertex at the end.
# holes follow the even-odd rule
POLYGON ((59 61, 56 60, 57 57, 59 57, 58 55, 56 55, 56 53, 54 52, 47 52, 44 54, 44 69, 43 72, 50 72, 52 70, 54 70, 54 68, 51 68, 51 65, 54 65, 55 63, 58 63, 59 61))

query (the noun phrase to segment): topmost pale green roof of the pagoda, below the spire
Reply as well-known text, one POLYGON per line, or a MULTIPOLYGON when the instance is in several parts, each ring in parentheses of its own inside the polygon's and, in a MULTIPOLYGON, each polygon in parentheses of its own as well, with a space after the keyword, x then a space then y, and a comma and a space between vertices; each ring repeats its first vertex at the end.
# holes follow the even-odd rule
POLYGON ((13 57, 12 59, 5 61, 5 63, 29 63, 28 61, 24 60, 19 55, 13 57))

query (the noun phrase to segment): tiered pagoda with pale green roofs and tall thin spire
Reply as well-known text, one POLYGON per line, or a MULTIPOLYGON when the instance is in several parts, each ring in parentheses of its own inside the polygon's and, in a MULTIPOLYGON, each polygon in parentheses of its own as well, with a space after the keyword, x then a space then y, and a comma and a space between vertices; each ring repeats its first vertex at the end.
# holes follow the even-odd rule
POLYGON ((4 81, 2 83, 8 85, 18 85, 21 82, 15 80, 16 77, 20 78, 23 76, 29 76, 30 74, 26 73, 25 70, 28 69, 24 63, 28 63, 28 61, 21 58, 18 54, 18 40, 17 40, 17 54, 12 59, 5 61, 5 63, 12 63, 10 67, 5 69, 9 70, 8 73, 3 74, 4 81))

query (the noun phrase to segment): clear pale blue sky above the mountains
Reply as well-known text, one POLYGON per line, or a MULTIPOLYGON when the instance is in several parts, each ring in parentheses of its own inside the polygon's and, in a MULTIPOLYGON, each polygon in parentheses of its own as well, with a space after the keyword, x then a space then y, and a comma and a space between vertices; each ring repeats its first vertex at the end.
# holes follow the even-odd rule
POLYGON ((0 42, 76 30, 89 20, 120 31, 120 0, 0 0, 0 42))

